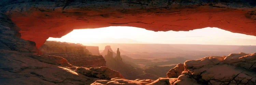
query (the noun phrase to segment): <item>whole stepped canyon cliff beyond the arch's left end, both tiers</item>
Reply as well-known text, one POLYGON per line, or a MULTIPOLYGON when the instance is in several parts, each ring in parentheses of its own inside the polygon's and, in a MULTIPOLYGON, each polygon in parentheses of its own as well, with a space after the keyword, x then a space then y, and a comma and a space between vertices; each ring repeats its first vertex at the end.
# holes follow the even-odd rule
MULTIPOLYGON (((93 51, 98 50, 98 47, 89 46, 89 48, 93 49, 93 51)), ((39 50, 43 54, 63 57, 74 66, 87 68, 106 66, 106 61, 103 56, 92 55, 92 53, 87 50, 87 46, 83 46, 82 44, 46 41, 39 50)))

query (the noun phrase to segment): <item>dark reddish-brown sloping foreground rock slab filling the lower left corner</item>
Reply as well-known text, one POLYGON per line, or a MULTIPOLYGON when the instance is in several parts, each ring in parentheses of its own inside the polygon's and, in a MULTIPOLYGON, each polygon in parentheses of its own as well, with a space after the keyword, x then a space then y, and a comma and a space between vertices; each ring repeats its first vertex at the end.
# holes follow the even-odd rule
POLYGON ((75 67, 58 56, 0 51, 0 84, 88 85, 101 79, 124 78, 107 67, 75 67))

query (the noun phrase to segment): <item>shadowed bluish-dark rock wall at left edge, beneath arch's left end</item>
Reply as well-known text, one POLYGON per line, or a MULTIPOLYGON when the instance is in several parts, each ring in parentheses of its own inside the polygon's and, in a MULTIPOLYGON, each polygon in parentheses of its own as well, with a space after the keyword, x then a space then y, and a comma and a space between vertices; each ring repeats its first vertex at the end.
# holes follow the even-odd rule
POLYGON ((20 38, 19 30, 5 14, 0 13, 0 49, 40 54, 34 42, 20 38))

